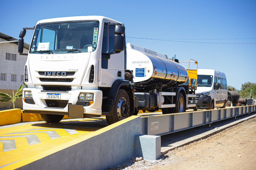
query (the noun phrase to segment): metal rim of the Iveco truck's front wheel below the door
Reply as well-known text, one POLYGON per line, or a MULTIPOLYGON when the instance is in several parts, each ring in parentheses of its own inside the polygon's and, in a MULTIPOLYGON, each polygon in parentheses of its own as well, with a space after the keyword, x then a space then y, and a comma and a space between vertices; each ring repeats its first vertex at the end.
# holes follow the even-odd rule
POLYGON ((127 115, 129 114, 129 103, 124 97, 121 97, 118 100, 116 109, 117 109, 117 117, 119 120, 123 120, 127 117, 127 115))

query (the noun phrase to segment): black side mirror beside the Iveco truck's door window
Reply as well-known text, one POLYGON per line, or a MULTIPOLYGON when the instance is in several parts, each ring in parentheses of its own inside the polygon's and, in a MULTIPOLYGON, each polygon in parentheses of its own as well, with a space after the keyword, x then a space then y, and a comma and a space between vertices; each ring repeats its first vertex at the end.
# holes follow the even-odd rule
POLYGON ((115 25, 115 36, 114 36, 114 51, 120 53, 124 51, 124 34, 125 27, 121 25, 115 25))

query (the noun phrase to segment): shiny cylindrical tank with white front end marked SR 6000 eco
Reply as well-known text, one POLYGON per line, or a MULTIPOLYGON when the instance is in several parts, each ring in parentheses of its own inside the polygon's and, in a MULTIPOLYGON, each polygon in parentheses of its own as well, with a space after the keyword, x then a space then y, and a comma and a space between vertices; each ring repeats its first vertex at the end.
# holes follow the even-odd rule
POLYGON ((126 51, 126 69, 133 72, 134 84, 173 85, 188 79, 187 70, 167 55, 131 43, 127 43, 126 51))

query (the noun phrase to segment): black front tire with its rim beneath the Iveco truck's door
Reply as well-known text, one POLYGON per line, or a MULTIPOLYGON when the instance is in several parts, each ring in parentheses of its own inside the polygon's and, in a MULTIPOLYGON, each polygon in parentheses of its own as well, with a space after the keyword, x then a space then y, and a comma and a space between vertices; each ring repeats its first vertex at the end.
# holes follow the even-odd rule
POLYGON ((114 108, 111 115, 107 115, 106 119, 109 125, 119 122, 130 116, 130 100, 127 92, 124 89, 119 89, 114 102, 114 108), (124 108, 121 110, 121 107, 124 108), (118 112, 118 109, 119 112, 118 112), (120 113, 121 112, 121 113, 120 113))

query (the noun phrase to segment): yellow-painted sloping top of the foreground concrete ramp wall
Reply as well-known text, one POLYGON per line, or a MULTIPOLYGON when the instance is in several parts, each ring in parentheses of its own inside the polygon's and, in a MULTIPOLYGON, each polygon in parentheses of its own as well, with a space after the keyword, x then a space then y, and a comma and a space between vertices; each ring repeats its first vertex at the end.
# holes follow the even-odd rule
POLYGON ((13 163, 13 164, 11 164, 9 166, 5 166, 5 167, 2 168, 2 170, 5 170, 5 169, 6 170, 8 170, 8 169, 17 169, 19 167, 25 166, 25 165, 27 165, 27 164, 29 164, 31 162, 34 162, 34 161, 39 160, 39 159, 42 159, 42 158, 44 158, 44 157, 46 157, 48 155, 51 155, 51 154, 53 154, 55 152, 61 151, 61 150, 65 149, 65 148, 68 148, 68 147, 70 147, 72 145, 78 144, 78 143, 80 143, 80 142, 82 142, 82 141, 84 141, 86 139, 89 139, 91 137, 100 135, 101 133, 104 133, 104 132, 106 132, 106 131, 108 131, 110 129, 113 129, 113 128, 115 128, 115 127, 117 127, 117 126, 119 126, 121 124, 124 124, 126 122, 129 122, 129 121, 131 121, 133 119, 136 119, 137 117, 140 117, 140 116, 128 117, 128 118, 126 118, 126 119, 124 119, 122 121, 119 121, 119 122, 116 122, 114 124, 111 124, 111 125, 109 125, 109 126, 107 126, 105 128, 96 130, 95 132, 92 132, 92 133, 90 133, 88 135, 85 135, 83 137, 79 137, 79 138, 74 139, 72 141, 69 141, 69 142, 67 142, 65 144, 61 144, 59 146, 56 146, 56 147, 52 148, 51 150, 47 150, 47 151, 38 153, 38 154, 33 155, 33 156, 31 156, 31 157, 29 157, 27 159, 23 159, 23 160, 20 160, 18 162, 15 162, 15 163, 13 163))

